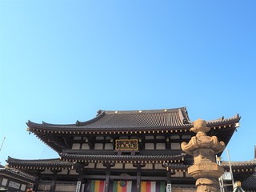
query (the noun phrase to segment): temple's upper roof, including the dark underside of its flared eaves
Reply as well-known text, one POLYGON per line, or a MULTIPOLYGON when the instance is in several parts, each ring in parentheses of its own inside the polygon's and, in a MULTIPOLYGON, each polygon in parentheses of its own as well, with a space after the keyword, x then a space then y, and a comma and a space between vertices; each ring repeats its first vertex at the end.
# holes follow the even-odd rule
MULTIPOLYGON (((227 144, 239 120, 240 117, 235 115, 232 118, 222 117, 206 121, 206 123, 213 130, 209 134, 216 135, 220 141, 227 144)), ((181 107, 166 110, 99 110, 95 118, 86 122, 61 125, 46 122, 38 124, 29 121, 27 126, 28 131, 34 133, 53 150, 61 153, 67 148, 63 137, 70 137, 70 135, 182 133, 189 132, 193 122, 190 122, 186 107, 181 107)))

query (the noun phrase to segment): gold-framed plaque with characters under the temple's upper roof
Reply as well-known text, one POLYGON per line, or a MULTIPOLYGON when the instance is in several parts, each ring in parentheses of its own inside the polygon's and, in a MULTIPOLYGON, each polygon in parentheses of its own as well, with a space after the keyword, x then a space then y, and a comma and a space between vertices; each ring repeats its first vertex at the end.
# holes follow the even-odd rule
POLYGON ((115 150, 138 150, 138 139, 116 139, 115 150))

